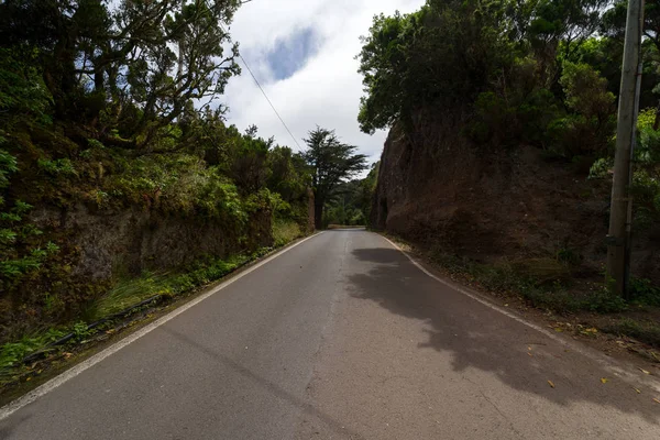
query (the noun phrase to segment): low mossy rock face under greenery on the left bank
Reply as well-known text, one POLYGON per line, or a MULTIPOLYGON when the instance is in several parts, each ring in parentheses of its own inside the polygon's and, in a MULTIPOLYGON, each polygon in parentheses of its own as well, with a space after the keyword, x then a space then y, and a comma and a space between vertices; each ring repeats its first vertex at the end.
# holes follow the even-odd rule
POLYGON ((72 275, 90 279, 109 278, 116 270, 168 270, 202 256, 221 258, 273 244, 271 212, 254 213, 244 231, 215 219, 163 216, 144 208, 95 212, 82 205, 67 210, 41 207, 32 217, 79 249, 72 275))

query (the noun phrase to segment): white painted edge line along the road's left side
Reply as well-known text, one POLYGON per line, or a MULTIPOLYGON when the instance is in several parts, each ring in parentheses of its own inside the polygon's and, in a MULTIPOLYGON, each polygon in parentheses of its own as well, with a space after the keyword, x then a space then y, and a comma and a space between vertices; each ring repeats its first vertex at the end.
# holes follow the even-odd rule
POLYGON ((46 382, 43 385, 40 385, 38 387, 34 388, 33 391, 31 391, 30 393, 25 394, 22 397, 19 397, 18 399, 7 404, 6 406, 3 406, 2 408, 0 408, 0 420, 3 420, 6 418, 8 418, 9 416, 11 416, 13 413, 18 411, 19 409, 21 409, 22 407, 24 407, 25 405, 30 405, 31 403, 33 403, 34 400, 36 400, 37 398, 40 398, 41 396, 52 392, 53 389, 57 388, 59 385, 70 381, 72 378, 76 377, 77 375, 79 375, 80 373, 82 373, 85 370, 98 364, 99 362, 101 362, 102 360, 105 360, 106 358, 110 356, 111 354, 117 353, 118 351, 120 351, 121 349, 123 349, 124 346, 129 345, 130 343, 135 342, 136 340, 139 340, 140 338, 142 338, 143 336, 145 336, 146 333, 157 329, 158 327, 163 326, 165 322, 176 318, 177 316, 182 315, 184 311, 188 310, 191 307, 197 306, 199 302, 204 301, 205 299, 207 299, 208 297, 210 297, 213 294, 217 294, 218 292, 222 290, 224 287, 229 286, 230 284, 241 279, 242 277, 244 277, 245 275, 256 271, 257 268, 260 268, 261 266, 263 266, 264 264, 271 262, 272 260, 277 258, 278 256, 280 256, 282 254, 290 251, 292 249, 305 243, 307 240, 314 239, 315 237, 318 237, 320 234, 322 234, 323 231, 321 232, 317 232, 314 235, 310 235, 306 239, 300 240, 299 242, 283 249, 282 251, 277 252, 274 255, 268 256, 266 260, 256 263, 255 265, 246 268, 245 271, 232 276, 230 279, 219 284, 218 286, 211 288, 209 292, 207 292, 206 294, 202 294, 200 296, 198 296, 197 298, 193 299, 189 302, 184 304, 183 306, 180 306, 179 308, 177 308, 176 310, 170 311, 169 314, 165 315, 164 317, 160 318, 158 320, 150 323, 146 327, 143 327, 142 329, 138 330, 136 332, 129 334, 128 337, 125 337, 124 339, 122 339, 121 341, 118 341, 116 344, 110 345, 109 348, 107 348, 106 350, 95 354, 94 356, 89 358, 87 361, 80 362, 78 365, 72 367, 70 370, 65 371, 64 373, 62 373, 61 375, 53 377, 52 380, 50 380, 48 382, 46 382))

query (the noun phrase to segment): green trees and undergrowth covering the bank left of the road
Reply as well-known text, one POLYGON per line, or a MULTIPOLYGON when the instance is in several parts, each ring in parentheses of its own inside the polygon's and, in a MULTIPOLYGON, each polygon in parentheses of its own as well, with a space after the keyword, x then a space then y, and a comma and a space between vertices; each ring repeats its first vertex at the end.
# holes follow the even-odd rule
POLYGON ((240 74, 226 31, 240 4, 0 2, 2 365, 51 342, 47 329, 189 292, 309 232, 306 156, 228 125, 218 102, 240 74), (208 223, 228 246, 131 276, 110 251, 117 274, 90 282, 76 231, 45 210, 208 223))

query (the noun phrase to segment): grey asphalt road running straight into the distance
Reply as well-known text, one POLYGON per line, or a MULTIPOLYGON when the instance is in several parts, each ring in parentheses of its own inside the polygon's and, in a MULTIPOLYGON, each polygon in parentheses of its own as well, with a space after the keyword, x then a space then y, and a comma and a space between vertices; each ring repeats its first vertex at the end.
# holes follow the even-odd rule
POLYGON ((660 439, 659 383, 603 358, 380 235, 328 231, 15 410, 0 439, 660 439))

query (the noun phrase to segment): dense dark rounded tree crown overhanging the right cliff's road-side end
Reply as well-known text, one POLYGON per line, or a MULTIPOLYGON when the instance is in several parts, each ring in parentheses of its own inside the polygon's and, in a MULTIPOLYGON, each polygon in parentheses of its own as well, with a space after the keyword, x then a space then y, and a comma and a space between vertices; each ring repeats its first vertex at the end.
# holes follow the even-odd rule
POLYGON ((373 133, 406 123, 416 108, 474 98, 503 66, 514 45, 512 22, 497 1, 428 1, 418 12, 374 16, 362 37, 364 91, 358 120, 373 133))

